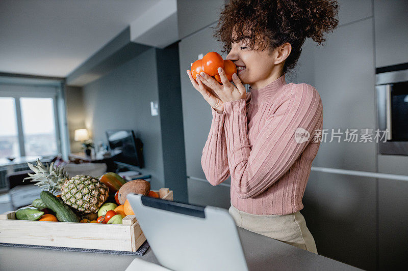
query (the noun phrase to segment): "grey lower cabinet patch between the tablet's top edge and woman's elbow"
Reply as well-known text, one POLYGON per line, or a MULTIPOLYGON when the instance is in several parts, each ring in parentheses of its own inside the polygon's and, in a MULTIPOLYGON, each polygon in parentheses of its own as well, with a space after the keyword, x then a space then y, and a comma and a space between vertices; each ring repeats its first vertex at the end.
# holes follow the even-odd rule
POLYGON ((228 209, 231 206, 230 186, 212 186, 209 182, 187 178, 188 202, 228 209))

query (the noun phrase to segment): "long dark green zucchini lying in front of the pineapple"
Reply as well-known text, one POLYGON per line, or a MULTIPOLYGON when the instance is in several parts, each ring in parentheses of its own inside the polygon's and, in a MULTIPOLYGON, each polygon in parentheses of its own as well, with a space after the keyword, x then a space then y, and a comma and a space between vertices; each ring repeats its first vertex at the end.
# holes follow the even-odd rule
POLYGON ((55 212, 55 216, 61 222, 79 222, 77 215, 61 199, 48 191, 41 191, 40 197, 48 208, 55 212))

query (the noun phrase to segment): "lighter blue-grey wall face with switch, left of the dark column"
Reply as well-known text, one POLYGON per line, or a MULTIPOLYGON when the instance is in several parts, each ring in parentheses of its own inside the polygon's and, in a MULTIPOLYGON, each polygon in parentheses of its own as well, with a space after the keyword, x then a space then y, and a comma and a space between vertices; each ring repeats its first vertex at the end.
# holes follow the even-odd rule
POLYGON ((142 172, 152 175, 154 189, 164 187, 160 116, 150 114, 150 101, 158 100, 154 48, 84 86, 86 126, 94 142, 106 142, 108 129, 133 129, 144 144, 142 172))

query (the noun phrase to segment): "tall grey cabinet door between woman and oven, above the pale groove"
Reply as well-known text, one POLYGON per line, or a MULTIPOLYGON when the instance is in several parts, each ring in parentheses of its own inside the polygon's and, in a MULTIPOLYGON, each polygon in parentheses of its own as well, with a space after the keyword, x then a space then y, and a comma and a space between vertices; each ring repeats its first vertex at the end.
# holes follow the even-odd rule
MULTIPOLYGON (((375 142, 347 142, 346 129, 375 130, 374 48, 372 18, 338 27, 323 46, 303 45, 298 66, 287 82, 312 84, 323 103, 323 129, 315 165, 350 170, 376 170, 375 142), (331 129, 340 129, 340 142, 331 140, 331 129)), ((360 141, 359 136, 357 141, 360 141)), ((374 141, 374 140, 373 140, 374 141)))

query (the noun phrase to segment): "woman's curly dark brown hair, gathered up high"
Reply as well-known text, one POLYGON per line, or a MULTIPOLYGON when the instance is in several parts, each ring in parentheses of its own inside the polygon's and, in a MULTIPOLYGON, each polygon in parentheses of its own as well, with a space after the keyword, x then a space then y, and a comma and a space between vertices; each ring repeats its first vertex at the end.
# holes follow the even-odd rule
POLYGON ((220 14, 214 37, 223 43, 222 52, 231 51, 231 43, 244 39, 251 49, 271 51, 289 42, 291 53, 281 75, 293 69, 306 38, 318 45, 323 34, 337 27, 337 1, 331 0, 230 0, 220 14), (236 36, 232 37, 233 29, 236 36))

